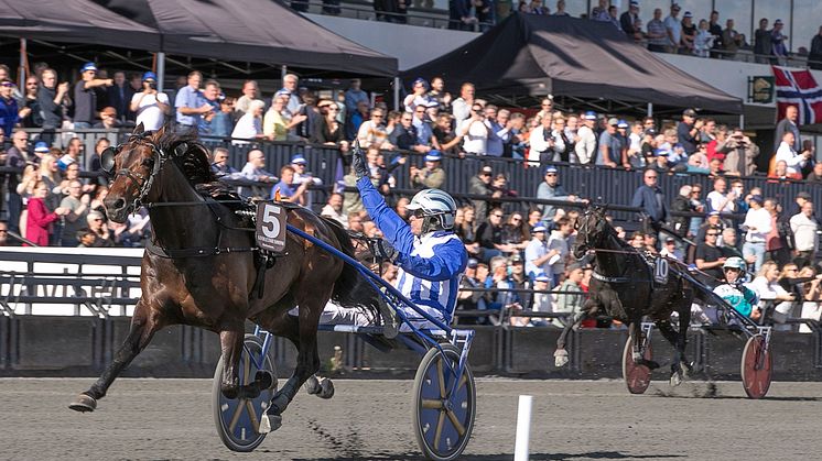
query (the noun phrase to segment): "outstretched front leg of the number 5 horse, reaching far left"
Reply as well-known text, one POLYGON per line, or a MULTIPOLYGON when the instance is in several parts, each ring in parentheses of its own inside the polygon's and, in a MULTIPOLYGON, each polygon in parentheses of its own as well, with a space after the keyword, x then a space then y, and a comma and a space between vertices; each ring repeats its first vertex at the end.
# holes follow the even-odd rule
POLYGON ((134 316, 131 319, 131 328, 126 341, 117 350, 115 359, 106 367, 96 383, 86 392, 80 394, 68 407, 77 411, 94 411, 97 400, 106 396, 111 383, 120 375, 132 360, 143 350, 154 333, 166 325, 158 315, 152 315, 151 308, 142 298, 137 303, 134 316))

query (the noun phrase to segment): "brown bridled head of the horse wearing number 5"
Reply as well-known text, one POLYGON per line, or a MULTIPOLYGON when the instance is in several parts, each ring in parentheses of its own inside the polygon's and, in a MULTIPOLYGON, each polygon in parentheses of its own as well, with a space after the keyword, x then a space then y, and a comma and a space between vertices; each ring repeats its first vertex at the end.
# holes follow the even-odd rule
MULTIPOLYGON (((162 134, 162 130, 158 134, 162 134)), ((100 154, 102 171, 113 177, 104 205, 109 219, 115 222, 125 222, 151 190, 163 157, 154 136, 140 123, 125 143, 108 147, 100 154)))

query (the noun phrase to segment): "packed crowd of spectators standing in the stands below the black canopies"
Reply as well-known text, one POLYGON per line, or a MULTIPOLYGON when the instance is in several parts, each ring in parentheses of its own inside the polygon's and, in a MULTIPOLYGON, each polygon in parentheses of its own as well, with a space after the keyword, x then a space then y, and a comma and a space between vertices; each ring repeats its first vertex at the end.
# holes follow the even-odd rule
MULTIPOLYGON (((56 73, 43 66, 26 79, 26 96, 18 95, 17 100, 8 68, 0 67, 0 72, 6 73, 0 75, 0 97, 8 107, 17 103, 21 108, 4 119, 11 121, 3 128, 11 133, 11 146, 2 153, 3 163, 22 171, 6 175, 6 224, 33 244, 141 245, 151 231, 144 211, 125 224, 108 221, 101 206, 106 182, 80 175, 99 169, 97 155, 108 147, 108 140, 100 138, 95 152, 84 156, 79 139, 64 143, 65 150, 55 147, 54 129, 142 124, 156 130, 171 123, 181 132, 196 131, 206 142, 230 138, 234 144, 248 146, 248 162, 240 169, 229 164, 225 144, 213 150, 213 169, 218 177, 248 180, 241 194, 303 206, 315 202, 313 186, 322 186, 307 171, 306 158, 296 154, 288 164, 269 166, 257 144, 261 140, 304 141, 336 147, 340 174, 331 185, 322 213, 368 237, 379 237, 379 231, 365 213, 358 194, 346 188, 356 177, 343 166, 355 142, 367 152, 375 186, 402 217, 408 216, 408 197, 393 194, 399 172, 409 175, 402 183, 415 189, 443 187, 450 175, 472 175, 472 201, 461 208, 455 228, 471 255, 464 285, 507 290, 466 290, 461 294, 459 307, 513 310, 520 312, 511 320, 516 325, 545 323, 529 318, 529 310, 577 310, 591 277, 590 266, 569 256, 577 207, 585 200, 562 184, 554 167, 559 162, 643 171, 645 184, 630 205, 643 209, 647 226, 643 232, 623 237, 648 252, 693 261, 714 279, 722 277, 716 268, 728 257, 723 252, 739 253, 754 271, 761 270, 766 260, 780 268, 791 263, 799 270, 815 267, 818 223, 813 205, 805 204, 808 197, 797 198, 796 210, 781 212, 776 200, 761 197, 760 191, 740 190, 743 183, 737 178, 756 172, 758 147, 740 129, 717 125, 692 109, 682 112, 680 120, 663 121, 659 127, 653 118, 625 120, 592 111, 559 110, 552 97, 543 98, 539 110, 512 111, 477 97, 471 83, 452 96, 440 77, 413 81, 400 111, 374 102, 357 79, 346 90, 315 94, 301 87, 299 77, 291 74, 270 99, 253 80, 244 84, 237 98, 224 96, 218 81, 203 84, 198 72, 181 77, 170 91, 172 97, 158 91, 153 73, 128 76, 116 72, 115 78, 108 78, 91 63, 83 66, 74 85, 58 83, 56 73), (34 134, 20 128, 44 130, 31 143, 34 134), (509 184, 510 172, 495 171, 490 165, 477 172, 446 172, 442 160, 448 154, 519 160, 524 167, 540 168, 544 180, 536 190, 516 190, 517 185, 509 184), (422 162, 415 164, 418 158, 422 162), (402 165, 407 167, 400 168, 402 165), (694 184, 671 201, 661 196, 656 185, 660 178, 688 173, 712 176, 713 191, 703 199, 701 186, 694 184), (726 190, 728 182, 731 190, 726 190), (509 200, 517 197, 554 201, 531 208, 523 207, 526 201, 509 200), (669 211, 691 215, 672 216, 669 211), (744 222, 736 219, 740 215, 745 215, 744 222), (657 241, 663 227, 696 245, 689 252, 678 242, 671 246, 668 241, 657 241), (558 293, 523 294, 516 292, 518 288, 558 293)), ((776 134, 779 142, 769 180, 822 180, 812 144, 800 138, 796 109, 787 111, 776 134)), ((495 318, 499 317, 489 314, 477 321, 495 318)))

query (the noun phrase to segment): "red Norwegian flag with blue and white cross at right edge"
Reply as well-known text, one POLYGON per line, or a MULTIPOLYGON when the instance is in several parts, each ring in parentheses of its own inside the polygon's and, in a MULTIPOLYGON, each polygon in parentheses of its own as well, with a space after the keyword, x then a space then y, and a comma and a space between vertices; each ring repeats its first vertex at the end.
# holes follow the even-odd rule
POLYGON ((822 123, 822 87, 810 70, 771 66, 777 90, 777 120, 785 118, 788 106, 799 108, 799 124, 822 123))

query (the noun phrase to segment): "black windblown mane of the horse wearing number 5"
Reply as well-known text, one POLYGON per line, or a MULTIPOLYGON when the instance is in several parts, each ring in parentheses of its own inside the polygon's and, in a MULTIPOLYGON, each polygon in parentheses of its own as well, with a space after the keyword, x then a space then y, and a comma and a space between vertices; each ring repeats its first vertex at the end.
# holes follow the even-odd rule
POLYGON ((152 134, 152 142, 161 151, 173 155, 176 165, 193 186, 217 180, 212 172, 208 149, 197 141, 196 132, 181 134, 166 125, 152 134), (185 150, 175 153, 180 146, 184 146, 185 150))

